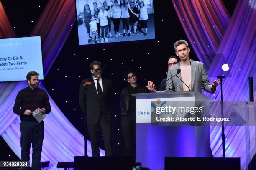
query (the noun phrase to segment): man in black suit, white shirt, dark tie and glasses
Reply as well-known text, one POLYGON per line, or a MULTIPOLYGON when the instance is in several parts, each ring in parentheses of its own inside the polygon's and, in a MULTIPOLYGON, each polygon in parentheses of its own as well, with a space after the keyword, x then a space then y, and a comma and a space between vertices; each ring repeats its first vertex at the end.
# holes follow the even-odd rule
POLYGON ((110 142, 110 92, 112 83, 102 78, 101 63, 90 63, 92 76, 82 80, 79 93, 79 104, 86 114, 87 130, 92 146, 92 156, 99 157, 100 129, 105 145, 105 155, 111 156, 110 142))

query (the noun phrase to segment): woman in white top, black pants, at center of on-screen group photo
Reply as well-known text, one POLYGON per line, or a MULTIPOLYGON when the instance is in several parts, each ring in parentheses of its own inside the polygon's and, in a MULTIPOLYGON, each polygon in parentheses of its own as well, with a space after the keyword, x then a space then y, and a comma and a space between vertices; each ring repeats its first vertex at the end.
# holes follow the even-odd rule
MULTIPOLYGON (((113 2, 111 0, 111 2, 113 2)), ((121 20, 121 8, 118 6, 118 1, 114 0, 114 6, 110 9, 110 12, 113 12, 112 14, 112 21, 114 24, 114 31, 115 31, 115 37, 118 38, 121 34, 119 33, 119 25, 121 20)))

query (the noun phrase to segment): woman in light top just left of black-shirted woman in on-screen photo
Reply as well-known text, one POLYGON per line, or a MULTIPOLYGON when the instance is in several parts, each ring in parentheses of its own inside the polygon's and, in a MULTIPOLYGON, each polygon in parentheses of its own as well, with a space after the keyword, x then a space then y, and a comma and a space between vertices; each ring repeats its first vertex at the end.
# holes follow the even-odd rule
POLYGON ((123 36, 126 35, 126 30, 125 28, 127 29, 127 36, 129 37, 130 36, 130 33, 129 33, 129 18, 130 18, 130 15, 129 15, 129 12, 128 12, 128 8, 130 8, 130 4, 126 1, 126 0, 120 0, 120 7, 121 7, 121 10, 122 10, 122 13, 121 13, 121 18, 122 18, 122 22, 123 22, 123 36))

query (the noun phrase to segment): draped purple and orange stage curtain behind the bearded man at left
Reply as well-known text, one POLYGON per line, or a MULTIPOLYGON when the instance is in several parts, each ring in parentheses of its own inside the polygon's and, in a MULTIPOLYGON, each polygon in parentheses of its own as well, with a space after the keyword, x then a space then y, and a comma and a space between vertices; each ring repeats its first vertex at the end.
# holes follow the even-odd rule
MULTIPOLYGON (((49 0, 31 33, 31 36, 42 37, 45 75, 67 40, 75 20, 73 0, 49 0)), ((0 38, 10 37, 15 37, 15 34, 0 3, 0 38)), ((21 155, 20 118, 13 113, 13 104, 18 91, 26 86, 28 86, 26 82, 0 83, 0 135, 18 157, 21 155)), ((44 89, 42 84, 40 87, 44 89)), ((62 114, 51 96, 49 100, 52 109, 44 121, 45 134, 41 161, 49 160, 51 162, 49 169, 56 169, 58 161, 70 162, 74 160, 74 156, 84 155, 84 137, 62 114)), ((89 141, 87 145, 87 155, 91 156, 89 141)), ((100 150, 100 155, 105 155, 104 150, 100 150)))

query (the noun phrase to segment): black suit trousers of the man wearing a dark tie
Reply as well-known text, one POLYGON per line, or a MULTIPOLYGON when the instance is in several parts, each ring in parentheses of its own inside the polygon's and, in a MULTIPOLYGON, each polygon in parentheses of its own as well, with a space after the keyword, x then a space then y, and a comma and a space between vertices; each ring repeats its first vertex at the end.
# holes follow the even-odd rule
MULTIPOLYGON (((107 27, 108 28, 108 27, 107 27)), ((99 122, 96 125, 87 125, 87 130, 90 136, 91 146, 92 146, 92 156, 99 157, 99 139, 100 139, 100 129, 103 135, 105 155, 111 156, 111 139, 110 139, 110 124, 105 120, 104 115, 100 112, 99 122)))

